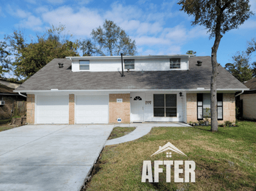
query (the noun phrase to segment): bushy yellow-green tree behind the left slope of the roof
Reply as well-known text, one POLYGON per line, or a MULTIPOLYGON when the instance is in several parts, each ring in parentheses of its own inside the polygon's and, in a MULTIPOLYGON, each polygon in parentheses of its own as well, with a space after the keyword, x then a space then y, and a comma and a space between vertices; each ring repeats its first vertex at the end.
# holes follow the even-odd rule
POLYGON ((30 43, 26 42, 21 32, 14 31, 12 35, 6 37, 15 56, 11 67, 17 77, 10 80, 24 82, 55 58, 78 56, 78 41, 65 39, 66 37, 60 34, 64 29, 63 25, 59 28, 52 26, 44 35, 37 35, 37 42, 30 43))

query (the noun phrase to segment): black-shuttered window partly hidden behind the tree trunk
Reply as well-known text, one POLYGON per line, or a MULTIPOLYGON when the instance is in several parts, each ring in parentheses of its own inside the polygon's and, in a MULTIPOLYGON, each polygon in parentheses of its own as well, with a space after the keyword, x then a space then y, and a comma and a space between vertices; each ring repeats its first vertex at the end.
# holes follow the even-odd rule
MULTIPOLYGON (((206 116, 206 108, 210 109, 210 93, 197 93, 197 120, 206 116)), ((209 110, 210 112, 210 110, 209 110)), ((211 116, 209 114, 209 116, 211 116)), ((217 93, 217 120, 223 120, 223 94, 217 93)))

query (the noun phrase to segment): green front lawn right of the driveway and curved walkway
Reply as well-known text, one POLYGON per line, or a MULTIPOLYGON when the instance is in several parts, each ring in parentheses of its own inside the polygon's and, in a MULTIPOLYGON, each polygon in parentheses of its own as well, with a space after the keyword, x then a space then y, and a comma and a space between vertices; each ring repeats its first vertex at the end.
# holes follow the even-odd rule
MULTIPOLYGON (((239 127, 155 127, 142 138, 106 146, 86 190, 256 190, 256 124, 239 122, 239 127), (151 157, 168 141, 182 152, 151 157), (165 166, 159 183, 142 183, 143 160, 193 160, 196 183, 165 181, 165 166)), ((184 168, 184 167, 183 167, 184 168)), ((153 172, 154 176, 154 172, 153 172)), ((183 174, 180 175, 183 177, 183 174)))

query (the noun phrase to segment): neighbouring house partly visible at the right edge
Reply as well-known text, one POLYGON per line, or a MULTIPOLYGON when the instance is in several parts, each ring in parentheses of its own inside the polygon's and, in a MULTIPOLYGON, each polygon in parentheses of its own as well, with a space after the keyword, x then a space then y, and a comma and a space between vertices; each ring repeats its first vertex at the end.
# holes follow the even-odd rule
POLYGON ((242 84, 249 88, 237 96, 237 101, 242 101, 242 118, 256 120, 256 78, 242 84))

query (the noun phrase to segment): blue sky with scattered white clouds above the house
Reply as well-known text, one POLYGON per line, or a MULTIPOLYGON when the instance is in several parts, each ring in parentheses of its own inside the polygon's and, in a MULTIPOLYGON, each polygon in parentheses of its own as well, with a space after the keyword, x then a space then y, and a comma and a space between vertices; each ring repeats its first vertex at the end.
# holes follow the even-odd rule
MULTIPOLYGON (((204 26, 191 26, 194 17, 181 12, 178 1, 94 1, 94 0, 0 0, 0 41, 14 30, 24 32, 28 42, 47 28, 64 24, 73 40, 87 39, 105 19, 114 21, 136 41, 138 55, 185 54, 210 56, 214 38, 204 26)), ((221 39, 217 62, 232 62, 237 51, 245 51, 247 42, 256 39, 256 1, 250 1, 251 16, 239 29, 230 30, 221 39)), ((81 55, 81 54, 80 54, 81 55)), ((255 54, 251 60, 256 60, 255 54)))

